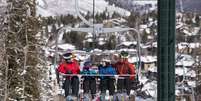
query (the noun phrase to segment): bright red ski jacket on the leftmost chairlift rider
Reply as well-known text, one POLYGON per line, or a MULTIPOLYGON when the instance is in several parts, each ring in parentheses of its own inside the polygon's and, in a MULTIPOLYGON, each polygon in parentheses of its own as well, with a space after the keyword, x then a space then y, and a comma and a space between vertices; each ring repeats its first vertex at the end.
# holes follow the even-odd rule
POLYGON ((58 67, 58 72, 64 74, 79 74, 80 67, 76 62, 61 63, 58 67))

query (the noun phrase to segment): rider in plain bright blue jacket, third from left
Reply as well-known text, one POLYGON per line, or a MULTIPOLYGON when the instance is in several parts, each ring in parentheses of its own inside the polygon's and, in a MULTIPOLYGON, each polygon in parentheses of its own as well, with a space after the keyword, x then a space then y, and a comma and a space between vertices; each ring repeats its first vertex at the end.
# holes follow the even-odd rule
MULTIPOLYGON (((104 64, 99 66, 100 75, 116 75, 116 70, 111 65, 110 60, 103 60, 104 64)), ((100 77, 100 90, 101 93, 106 93, 106 90, 109 90, 110 95, 112 96, 115 91, 115 78, 114 76, 102 76, 100 77)))

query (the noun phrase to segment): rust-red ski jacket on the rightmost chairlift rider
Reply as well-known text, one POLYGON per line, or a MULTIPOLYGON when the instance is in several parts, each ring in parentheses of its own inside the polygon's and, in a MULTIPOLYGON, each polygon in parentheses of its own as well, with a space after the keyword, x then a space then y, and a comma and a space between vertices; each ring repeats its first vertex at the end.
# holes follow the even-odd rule
MULTIPOLYGON (((123 61, 123 62, 117 62, 114 65, 117 74, 130 74, 130 75, 135 75, 135 66, 128 61, 123 61)), ((134 80, 135 76, 130 76, 131 80, 134 80)))

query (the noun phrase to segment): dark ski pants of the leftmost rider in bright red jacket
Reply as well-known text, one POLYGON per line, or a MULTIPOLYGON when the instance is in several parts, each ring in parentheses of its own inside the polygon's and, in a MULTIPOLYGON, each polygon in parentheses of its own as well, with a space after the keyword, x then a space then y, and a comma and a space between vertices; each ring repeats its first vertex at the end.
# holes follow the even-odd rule
POLYGON ((71 78, 66 78, 64 81, 63 88, 65 90, 65 96, 69 95, 70 87, 72 89, 72 95, 78 96, 79 91, 79 78, 77 76, 73 76, 71 78))

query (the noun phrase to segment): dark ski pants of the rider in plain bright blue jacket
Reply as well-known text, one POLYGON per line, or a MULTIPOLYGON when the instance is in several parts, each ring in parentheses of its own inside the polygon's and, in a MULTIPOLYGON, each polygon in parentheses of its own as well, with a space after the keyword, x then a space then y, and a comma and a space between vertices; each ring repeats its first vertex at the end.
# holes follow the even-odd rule
POLYGON ((102 93, 105 93, 106 90, 109 90, 110 95, 114 94, 115 91, 115 85, 114 85, 115 79, 110 77, 105 77, 104 79, 101 79, 100 81, 100 90, 102 93))

